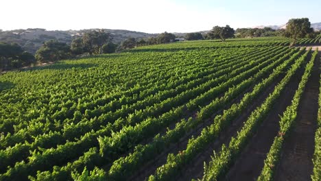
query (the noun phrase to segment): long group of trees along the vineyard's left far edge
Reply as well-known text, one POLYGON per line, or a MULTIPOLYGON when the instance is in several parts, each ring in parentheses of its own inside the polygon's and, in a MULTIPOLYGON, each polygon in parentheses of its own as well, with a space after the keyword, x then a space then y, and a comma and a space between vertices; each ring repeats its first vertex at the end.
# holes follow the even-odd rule
POLYGON ((73 39, 71 45, 48 40, 36 51, 35 56, 23 51, 18 44, 0 43, 0 71, 20 68, 38 62, 56 62, 66 58, 73 58, 82 54, 97 55, 100 53, 115 53, 123 49, 132 49, 143 45, 169 43, 176 38, 174 34, 164 32, 157 37, 147 40, 128 38, 120 45, 111 42, 110 34, 104 31, 85 32, 73 39))

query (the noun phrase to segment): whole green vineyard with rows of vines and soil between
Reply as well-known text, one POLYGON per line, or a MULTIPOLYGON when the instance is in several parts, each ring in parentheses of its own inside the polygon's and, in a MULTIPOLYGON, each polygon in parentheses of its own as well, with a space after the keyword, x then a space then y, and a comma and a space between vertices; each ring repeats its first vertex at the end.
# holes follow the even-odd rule
POLYGON ((289 44, 187 41, 0 75, 0 180, 321 180, 320 53, 289 44))

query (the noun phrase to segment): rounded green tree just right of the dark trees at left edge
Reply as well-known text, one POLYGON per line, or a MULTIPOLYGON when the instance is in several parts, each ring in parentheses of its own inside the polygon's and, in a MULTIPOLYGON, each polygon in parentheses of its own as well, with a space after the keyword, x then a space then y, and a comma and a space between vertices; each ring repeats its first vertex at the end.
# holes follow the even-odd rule
POLYGON ((66 43, 58 40, 49 40, 36 51, 36 60, 39 62, 55 62, 64 58, 69 58, 70 47, 66 43))

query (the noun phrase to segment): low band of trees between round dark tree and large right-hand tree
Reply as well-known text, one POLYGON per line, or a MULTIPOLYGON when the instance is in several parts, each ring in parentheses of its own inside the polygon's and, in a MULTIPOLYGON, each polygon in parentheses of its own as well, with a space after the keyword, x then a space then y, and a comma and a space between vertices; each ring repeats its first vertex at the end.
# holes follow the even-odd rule
POLYGON ((263 36, 280 36, 281 31, 276 31, 271 27, 264 28, 237 28, 235 31, 235 37, 246 38, 246 37, 263 37, 263 36))

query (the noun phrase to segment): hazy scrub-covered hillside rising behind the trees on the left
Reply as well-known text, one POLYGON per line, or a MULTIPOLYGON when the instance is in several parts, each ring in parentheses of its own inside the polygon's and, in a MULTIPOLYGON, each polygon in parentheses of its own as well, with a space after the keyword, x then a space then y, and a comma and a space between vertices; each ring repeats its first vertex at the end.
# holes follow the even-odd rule
MULTIPOLYGON (((47 31, 46 29, 16 29, 10 31, 0 31, 0 42, 18 43, 25 51, 35 53, 36 50, 47 40, 56 39, 60 42, 71 44, 73 37, 82 36, 85 32, 94 29, 68 30, 68 31, 47 31)), ((157 34, 147 34, 143 32, 134 32, 122 29, 104 29, 110 33, 112 42, 121 43, 127 38, 147 38, 157 36, 157 34)))

